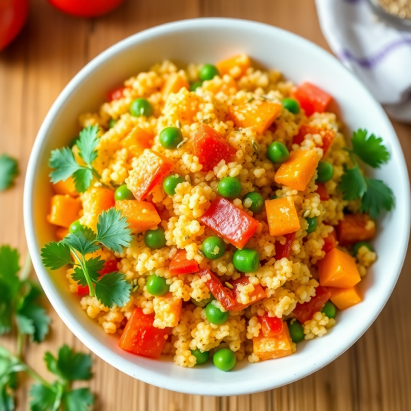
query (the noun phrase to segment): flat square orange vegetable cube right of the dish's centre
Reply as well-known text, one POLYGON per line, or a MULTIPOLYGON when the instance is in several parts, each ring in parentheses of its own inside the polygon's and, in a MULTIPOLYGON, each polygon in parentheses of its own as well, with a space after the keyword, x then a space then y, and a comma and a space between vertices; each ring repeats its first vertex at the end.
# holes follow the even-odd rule
POLYGON ((292 197, 266 200, 265 206, 271 236, 284 236, 300 228, 292 197))

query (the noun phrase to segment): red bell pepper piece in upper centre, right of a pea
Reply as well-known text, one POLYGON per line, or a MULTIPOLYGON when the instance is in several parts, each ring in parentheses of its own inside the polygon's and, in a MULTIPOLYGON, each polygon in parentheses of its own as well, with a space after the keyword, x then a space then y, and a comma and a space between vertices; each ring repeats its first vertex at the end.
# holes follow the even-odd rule
POLYGON ((201 124, 192 142, 192 152, 203 166, 201 171, 210 171, 221 160, 228 162, 236 150, 212 127, 201 124))

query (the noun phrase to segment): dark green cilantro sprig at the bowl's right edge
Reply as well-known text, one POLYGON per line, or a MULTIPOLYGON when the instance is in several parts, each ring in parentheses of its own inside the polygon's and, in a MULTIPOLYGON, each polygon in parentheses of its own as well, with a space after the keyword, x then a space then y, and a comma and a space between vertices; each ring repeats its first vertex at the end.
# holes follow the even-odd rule
POLYGON ((347 169, 340 182, 340 191, 345 200, 361 199, 360 211, 369 213, 377 219, 384 211, 390 211, 395 205, 393 191, 379 179, 362 175, 356 156, 364 163, 377 169, 388 162, 390 154, 382 138, 374 134, 368 136, 366 130, 358 129, 351 138, 352 149, 349 152, 353 167, 347 169))

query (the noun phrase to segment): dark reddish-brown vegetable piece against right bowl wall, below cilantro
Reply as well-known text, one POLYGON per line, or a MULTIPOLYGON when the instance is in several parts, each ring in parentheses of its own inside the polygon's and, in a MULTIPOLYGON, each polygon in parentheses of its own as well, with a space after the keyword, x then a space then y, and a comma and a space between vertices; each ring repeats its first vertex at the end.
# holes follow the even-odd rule
POLYGON ((368 214, 345 214, 338 222, 338 240, 341 245, 371 240, 375 236, 375 223, 368 214))

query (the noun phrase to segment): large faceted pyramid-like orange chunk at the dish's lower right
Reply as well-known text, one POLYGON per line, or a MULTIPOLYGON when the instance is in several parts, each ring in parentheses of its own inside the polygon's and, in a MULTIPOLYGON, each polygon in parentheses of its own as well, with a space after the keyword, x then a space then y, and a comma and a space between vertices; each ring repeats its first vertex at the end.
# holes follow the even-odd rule
POLYGON ((332 249, 319 261, 319 281, 323 287, 348 288, 361 281, 356 261, 339 249, 332 249))

